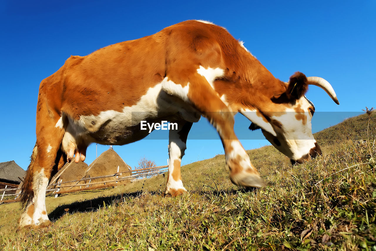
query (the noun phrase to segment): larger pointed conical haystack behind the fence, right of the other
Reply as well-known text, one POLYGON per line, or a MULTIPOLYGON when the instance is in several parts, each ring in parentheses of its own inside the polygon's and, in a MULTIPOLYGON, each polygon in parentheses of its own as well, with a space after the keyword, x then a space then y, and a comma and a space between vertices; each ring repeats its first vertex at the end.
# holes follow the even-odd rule
MULTIPOLYGON (((104 176, 104 175, 111 175, 118 172, 122 173, 122 175, 119 175, 118 178, 122 178, 125 176, 131 175, 130 170, 132 169, 127 163, 124 162, 124 160, 114 151, 114 149, 110 148, 107 151, 103 152, 99 157, 94 160, 87 169, 85 178, 89 177, 97 177, 97 176, 104 176)), ((92 179, 90 180, 90 183, 97 183, 100 181, 111 181, 116 180, 116 176, 112 177, 106 177, 106 178, 99 178, 99 179, 92 179)), ((117 186, 119 184, 126 184, 129 183, 129 180, 125 181, 118 181, 106 183, 106 184, 112 184, 113 186, 117 186)), ((101 187, 103 186, 103 183, 101 184, 92 184, 90 187, 101 187)))

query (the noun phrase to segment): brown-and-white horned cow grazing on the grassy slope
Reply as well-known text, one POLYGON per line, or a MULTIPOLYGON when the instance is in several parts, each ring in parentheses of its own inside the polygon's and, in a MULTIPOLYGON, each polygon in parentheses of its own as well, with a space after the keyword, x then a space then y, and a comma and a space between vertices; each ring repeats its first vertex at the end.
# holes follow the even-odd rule
POLYGON ((308 85, 323 88, 337 103, 323 78, 294 73, 280 81, 241 41, 223 27, 190 20, 154 35, 70 56, 39 86, 36 145, 22 186, 25 207, 19 227, 50 224, 45 192, 52 170, 67 161, 84 161, 90 143, 125 145, 149 130, 141 121, 169 121, 166 195, 186 192, 180 175, 188 132, 201 116, 217 130, 232 183, 266 185, 235 135, 234 115, 261 128, 268 141, 293 163, 321 154, 312 135, 314 105, 308 85))

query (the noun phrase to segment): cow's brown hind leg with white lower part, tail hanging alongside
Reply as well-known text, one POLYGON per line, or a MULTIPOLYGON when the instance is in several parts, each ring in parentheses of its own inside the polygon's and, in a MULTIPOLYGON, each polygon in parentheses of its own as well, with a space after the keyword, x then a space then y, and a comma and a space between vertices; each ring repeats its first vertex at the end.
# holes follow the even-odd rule
POLYGON ((41 105, 37 113, 36 147, 22 187, 21 201, 26 207, 19 220, 20 228, 42 228, 51 223, 47 216, 45 193, 56 158, 60 158, 57 153, 64 129, 55 126, 59 118, 58 114, 47 111, 46 105, 41 105))

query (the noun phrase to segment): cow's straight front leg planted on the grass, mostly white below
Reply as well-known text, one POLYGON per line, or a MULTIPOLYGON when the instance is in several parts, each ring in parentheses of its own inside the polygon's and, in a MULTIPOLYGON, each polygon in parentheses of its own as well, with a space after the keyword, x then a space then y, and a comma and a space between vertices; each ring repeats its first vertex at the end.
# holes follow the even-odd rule
POLYGON ((192 127, 190 122, 178 122, 177 129, 170 129, 168 154, 170 161, 168 162, 168 175, 166 184, 166 195, 178 196, 186 192, 182 183, 180 174, 180 164, 186 149, 186 140, 188 132, 192 127))

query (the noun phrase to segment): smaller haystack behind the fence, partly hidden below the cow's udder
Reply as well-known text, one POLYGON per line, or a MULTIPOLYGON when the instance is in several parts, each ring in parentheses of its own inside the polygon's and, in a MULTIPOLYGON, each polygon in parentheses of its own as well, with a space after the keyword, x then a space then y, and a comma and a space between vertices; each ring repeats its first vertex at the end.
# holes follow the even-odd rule
MULTIPOLYGON (((71 163, 66 163, 60 170, 57 172, 51 179, 50 184, 54 183, 61 183, 66 181, 75 181, 81 180, 85 174, 86 170, 88 170, 88 164, 85 162, 80 161, 79 163, 75 163, 71 161, 71 163)), ((65 192, 71 189, 79 188, 79 187, 69 187, 69 185, 76 185, 76 184, 86 184, 88 180, 85 181, 76 181, 76 182, 69 182, 61 184, 60 191, 65 192), (67 186, 67 187, 66 187, 67 186)), ((49 186, 47 189, 53 189, 59 186, 49 186)))

